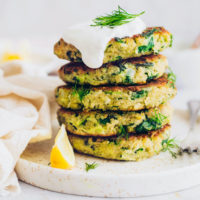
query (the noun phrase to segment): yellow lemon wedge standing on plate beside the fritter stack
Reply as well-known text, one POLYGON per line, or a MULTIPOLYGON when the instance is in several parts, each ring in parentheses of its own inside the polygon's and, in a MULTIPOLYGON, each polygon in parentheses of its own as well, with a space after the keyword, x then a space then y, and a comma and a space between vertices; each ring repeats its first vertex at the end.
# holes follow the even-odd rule
POLYGON ((50 162, 51 167, 60 169, 71 169, 75 165, 74 151, 67 137, 64 124, 55 138, 55 144, 51 150, 50 162))

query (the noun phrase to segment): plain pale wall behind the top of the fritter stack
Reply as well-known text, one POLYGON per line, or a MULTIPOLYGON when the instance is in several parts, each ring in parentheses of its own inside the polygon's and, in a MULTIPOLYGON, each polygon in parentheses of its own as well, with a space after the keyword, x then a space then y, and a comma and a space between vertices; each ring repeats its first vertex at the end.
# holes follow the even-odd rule
POLYGON ((192 42, 200 32, 199 0, 0 0, 0 37, 51 37, 68 25, 110 12, 117 5, 143 10, 148 26, 164 26, 192 42))

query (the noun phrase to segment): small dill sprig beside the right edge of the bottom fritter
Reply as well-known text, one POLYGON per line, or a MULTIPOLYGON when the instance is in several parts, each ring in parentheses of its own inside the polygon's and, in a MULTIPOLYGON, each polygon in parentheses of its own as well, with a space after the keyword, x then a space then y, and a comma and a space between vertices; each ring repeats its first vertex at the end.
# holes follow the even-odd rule
POLYGON ((162 151, 166 152, 168 151, 173 158, 177 157, 177 153, 180 147, 178 146, 177 142, 175 141, 175 138, 167 138, 162 141, 162 151))

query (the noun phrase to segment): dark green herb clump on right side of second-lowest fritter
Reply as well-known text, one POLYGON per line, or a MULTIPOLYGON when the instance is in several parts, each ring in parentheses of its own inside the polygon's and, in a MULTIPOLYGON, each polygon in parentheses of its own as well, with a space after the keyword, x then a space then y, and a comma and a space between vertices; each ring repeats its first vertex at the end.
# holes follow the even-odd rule
POLYGON ((145 133, 148 131, 157 130, 162 127, 166 118, 167 117, 163 114, 155 112, 153 117, 144 120, 141 124, 135 127, 135 130, 137 133, 145 133))

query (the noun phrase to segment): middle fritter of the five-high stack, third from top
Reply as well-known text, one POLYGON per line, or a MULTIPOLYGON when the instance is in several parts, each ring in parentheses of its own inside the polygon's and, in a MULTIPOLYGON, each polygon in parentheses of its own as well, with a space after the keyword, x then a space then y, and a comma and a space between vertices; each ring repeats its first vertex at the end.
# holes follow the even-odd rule
POLYGON ((166 76, 137 86, 60 86, 57 103, 72 110, 136 111, 157 107, 176 95, 166 76))

